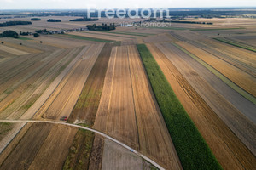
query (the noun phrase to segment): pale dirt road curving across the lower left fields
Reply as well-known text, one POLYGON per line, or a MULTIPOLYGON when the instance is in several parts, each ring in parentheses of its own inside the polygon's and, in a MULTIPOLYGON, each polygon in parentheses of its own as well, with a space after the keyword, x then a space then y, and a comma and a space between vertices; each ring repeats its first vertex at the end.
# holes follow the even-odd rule
POLYGON ((159 168, 160 170, 164 170, 163 167, 160 167, 159 164, 157 164, 156 162, 152 161, 151 159, 149 159, 147 156, 143 156, 143 154, 139 153, 137 150, 133 150, 131 147, 127 146, 126 144, 120 142, 119 140, 117 139, 113 139, 112 137, 108 136, 107 134, 105 133, 101 133, 95 129, 92 129, 90 127, 83 127, 83 126, 79 126, 79 125, 75 125, 75 124, 70 124, 70 123, 67 123, 67 122, 54 122, 54 121, 37 121, 37 120, 0 120, 0 122, 38 122, 38 123, 52 123, 52 124, 61 124, 61 125, 64 125, 64 126, 69 126, 69 127, 77 127, 77 128, 80 128, 80 129, 84 129, 84 130, 88 130, 90 132, 93 132, 93 133, 96 133, 96 134, 99 134, 101 135, 102 137, 106 138, 106 139, 110 139, 112 140, 113 142, 123 146, 125 149, 127 150, 130 150, 131 152, 135 153, 137 156, 140 156, 142 157, 144 160, 148 161, 149 163, 151 163, 152 165, 154 165, 154 167, 157 167, 159 168))

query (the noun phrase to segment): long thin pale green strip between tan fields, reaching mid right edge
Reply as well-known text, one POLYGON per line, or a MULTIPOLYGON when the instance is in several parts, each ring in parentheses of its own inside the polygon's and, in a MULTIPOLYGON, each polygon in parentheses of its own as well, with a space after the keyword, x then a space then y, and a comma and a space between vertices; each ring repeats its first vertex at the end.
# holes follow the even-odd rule
POLYGON ((240 88, 239 86, 237 86, 234 82, 230 81, 230 79, 228 79, 227 77, 225 77, 223 74, 221 74, 219 71, 217 71, 216 69, 214 69, 211 65, 208 65, 205 61, 199 59, 197 56, 195 56, 194 54, 189 53, 189 51, 187 51, 186 49, 180 47, 179 45, 177 45, 176 43, 172 42, 173 45, 175 45, 177 48, 179 48, 180 50, 182 50, 185 54, 188 54, 190 57, 192 57, 193 59, 195 59, 197 62, 199 62, 201 65, 204 65, 209 71, 212 71, 212 73, 217 76, 218 78, 220 78, 223 82, 225 82, 228 86, 230 86, 230 88, 233 88, 234 90, 236 90, 236 92, 238 92, 239 94, 241 94, 243 97, 245 97, 246 99, 250 100, 254 105, 256 105, 256 98, 252 95, 247 93, 247 91, 245 91, 244 89, 240 88))

